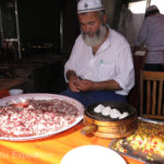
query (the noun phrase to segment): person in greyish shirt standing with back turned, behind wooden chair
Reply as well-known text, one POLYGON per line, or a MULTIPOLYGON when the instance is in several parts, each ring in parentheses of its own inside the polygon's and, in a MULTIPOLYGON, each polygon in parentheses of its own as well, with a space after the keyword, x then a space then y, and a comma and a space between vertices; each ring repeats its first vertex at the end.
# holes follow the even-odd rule
POLYGON ((133 52, 143 45, 148 48, 144 70, 164 71, 164 15, 156 5, 145 11, 133 52))

